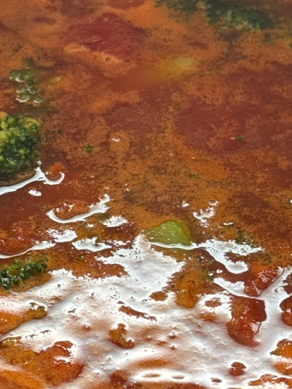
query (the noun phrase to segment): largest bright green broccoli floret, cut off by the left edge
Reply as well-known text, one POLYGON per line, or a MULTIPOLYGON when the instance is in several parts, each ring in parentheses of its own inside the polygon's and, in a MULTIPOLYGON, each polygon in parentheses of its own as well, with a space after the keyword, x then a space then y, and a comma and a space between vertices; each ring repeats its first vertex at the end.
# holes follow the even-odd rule
POLYGON ((33 167, 38 156, 41 124, 33 117, 19 115, 0 119, 0 180, 15 179, 33 167))

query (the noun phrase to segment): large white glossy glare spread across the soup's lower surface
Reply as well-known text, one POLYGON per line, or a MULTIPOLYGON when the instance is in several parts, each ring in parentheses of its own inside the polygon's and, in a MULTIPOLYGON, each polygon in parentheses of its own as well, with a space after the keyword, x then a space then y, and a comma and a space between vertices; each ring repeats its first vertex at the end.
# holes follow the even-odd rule
MULTIPOLYGON (((209 247, 209 244, 206 245, 209 247)), ((242 245, 240 245, 242 246, 242 245)), ((218 251, 230 249, 246 254, 243 247, 217 245, 218 251)), ((48 315, 42 320, 24 323, 7 336, 21 336, 29 346, 40 351, 58 340, 69 340, 72 361, 81 359, 85 367, 81 376, 62 389, 86 389, 88 382, 95 385, 115 372, 128 372, 130 381, 191 382, 215 388, 212 379, 221 379, 216 388, 248 388, 248 383, 262 374, 279 375, 273 367, 276 356, 270 356, 279 340, 291 337, 291 329, 280 319, 279 303, 286 298, 283 289, 285 270, 268 290, 261 294, 265 301, 267 320, 259 328, 259 346, 249 348, 236 343, 227 333, 226 322, 231 318, 232 295, 242 295, 242 285, 225 283, 222 292, 202 295, 195 308, 177 306, 175 293, 168 292, 165 301, 155 301, 149 296, 163 290, 173 274, 179 272, 184 262, 154 251, 152 245, 139 235, 132 249, 117 249, 111 256, 98 257, 104 263, 119 264, 127 276, 107 276, 91 279, 76 277, 66 270, 52 272, 51 281, 20 294, 8 295, 5 304, 15 309, 27 306, 29 301, 47 306, 48 315), (236 292, 237 291, 237 292, 236 292), (218 306, 208 306, 206 301, 216 299, 218 306), (120 311, 128 306, 140 315, 127 315, 120 311), (202 319, 202 314, 213 313, 216 322, 202 319), (108 340, 108 330, 124 323, 129 338, 135 342, 132 349, 121 349, 108 340), (91 330, 83 331, 82 326, 91 330), (275 328, 277 331, 275 331, 275 328), (31 336, 33 335, 33 337, 31 336), (164 367, 139 365, 141 361, 165 361, 164 367), (231 376, 229 367, 234 361, 247 367, 243 376, 231 376), (167 366, 167 367, 165 367, 167 366)), ((246 295, 245 295, 246 297, 246 295)), ((281 386, 266 386, 280 388, 281 386)))

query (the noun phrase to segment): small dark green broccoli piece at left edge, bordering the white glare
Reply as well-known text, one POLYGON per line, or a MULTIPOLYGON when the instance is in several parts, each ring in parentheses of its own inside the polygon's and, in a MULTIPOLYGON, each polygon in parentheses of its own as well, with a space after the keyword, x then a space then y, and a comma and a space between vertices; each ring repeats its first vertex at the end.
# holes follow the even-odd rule
POLYGON ((0 285, 5 289, 13 288, 32 276, 37 276, 47 269, 47 258, 39 260, 15 259, 12 265, 0 269, 0 285))

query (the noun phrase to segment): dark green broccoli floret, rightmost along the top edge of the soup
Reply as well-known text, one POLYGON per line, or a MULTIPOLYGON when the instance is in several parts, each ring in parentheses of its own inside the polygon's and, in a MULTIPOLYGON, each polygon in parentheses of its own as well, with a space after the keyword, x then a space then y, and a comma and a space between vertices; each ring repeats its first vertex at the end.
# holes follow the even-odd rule
POLYGON ((231 1, 206 0, 206 15, 211 23, 238 30, 264 30, 273 27, 272 20, 265 12, 231 1))

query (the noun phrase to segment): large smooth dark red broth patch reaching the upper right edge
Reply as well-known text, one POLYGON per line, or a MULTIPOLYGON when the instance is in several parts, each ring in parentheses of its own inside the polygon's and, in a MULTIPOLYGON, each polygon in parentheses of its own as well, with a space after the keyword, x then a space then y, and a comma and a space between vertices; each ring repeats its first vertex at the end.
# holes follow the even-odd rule
POLYGON ((267 147, 291 156, 292 130, 286 122, 292 109, 291 66, 274 67, 264 72, 241 69, 224 76, 224 83, 229 86, 225 103, 211 105, 195 98, 181 112, 179 133, 193 147, 212 153, 267 147))

